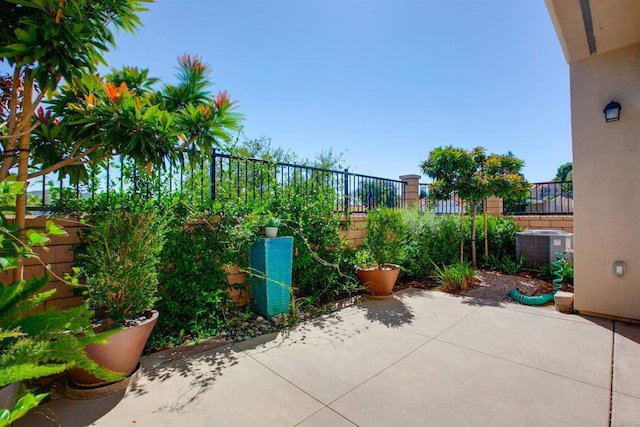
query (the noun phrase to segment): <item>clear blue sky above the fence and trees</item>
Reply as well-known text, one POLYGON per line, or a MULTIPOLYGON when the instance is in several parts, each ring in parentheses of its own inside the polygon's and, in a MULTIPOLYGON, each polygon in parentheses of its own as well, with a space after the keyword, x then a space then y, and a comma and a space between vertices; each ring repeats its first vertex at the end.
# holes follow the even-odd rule
MULTIPOLYGON (((512 151, 529 181, 571 161, 569 68, 543 0, 157 0, 110 66, 174 81, 198 54, 248 138, 353 172, 421 174, 434 147, 512 151)), ((423 176, 422 182, 429 179, 423 176)))

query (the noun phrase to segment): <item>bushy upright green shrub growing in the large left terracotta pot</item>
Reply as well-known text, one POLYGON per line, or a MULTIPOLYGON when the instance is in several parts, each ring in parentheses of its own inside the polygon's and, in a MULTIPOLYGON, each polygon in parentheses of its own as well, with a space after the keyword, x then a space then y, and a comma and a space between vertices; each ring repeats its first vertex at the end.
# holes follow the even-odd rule
POLYGON ((165 223, 158 214, 107 212, 83 237, 78 266, 86 275, 91 304, 115 321, 154 307, 165 223))

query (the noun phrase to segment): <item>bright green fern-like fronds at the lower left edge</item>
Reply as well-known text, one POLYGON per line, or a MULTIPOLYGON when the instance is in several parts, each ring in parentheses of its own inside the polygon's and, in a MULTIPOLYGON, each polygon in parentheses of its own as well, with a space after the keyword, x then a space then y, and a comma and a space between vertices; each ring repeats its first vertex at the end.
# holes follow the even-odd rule
MULTIPOLYGON (((0 181, 0 193, 15 195, 22 186, 0 181)), ((44 231, 28 230, 21 240, 17 227, 0 214, 0 273, 9 279, 11 270, 22 260, 38 259, 33 248, 46 247, 51 236, 64 234, 61 227, 48 222, 44 231)), ((93 312, 87 305, 59 310, 41 304, 56 289, 43 291, 49 283, 49 269, 43 277, 32 276, 0 286, 0 387, 13 382, 40 378, 64 372, 71 367, 82 368, 107 381, 116 381, 119 374, 100 368, 84 353, 91 343, 104 342, 105 337, 93 333, 90 319, 93 312)))

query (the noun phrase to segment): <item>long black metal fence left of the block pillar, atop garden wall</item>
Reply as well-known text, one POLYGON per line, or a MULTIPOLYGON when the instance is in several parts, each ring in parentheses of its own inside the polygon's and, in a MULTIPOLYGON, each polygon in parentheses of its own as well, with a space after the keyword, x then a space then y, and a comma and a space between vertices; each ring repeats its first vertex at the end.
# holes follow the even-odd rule
POLYGON ((194 203, 233 199, 249 203, 273 197, 296 186, 303 194, 323 188, 333 194, 336 211, 359 213, 376 207, 401 208, 404 187, 399 180, 320 169, 291 163, 244 158, 215 150, 209 155, 187 155, 176 164, 146 169, 127 159, 112 159, 91 171, 87 183, 71 185, 57 174, 30 183, 28 210, 52 212, 72 199, 95 199, 113 192, 133 192, 146 198, 182 193, 194 203))

